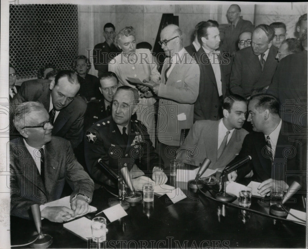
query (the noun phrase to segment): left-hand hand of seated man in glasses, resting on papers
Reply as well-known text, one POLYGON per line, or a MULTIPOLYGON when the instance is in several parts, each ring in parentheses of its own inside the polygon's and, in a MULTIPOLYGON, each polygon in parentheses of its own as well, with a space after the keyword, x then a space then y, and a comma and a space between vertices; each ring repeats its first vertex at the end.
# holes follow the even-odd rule
POLYGON ((46 218, 52 222, 67 221, 74 217, 74 211, 67 207, 45 207, 41 211, 41 217, 46 218))

